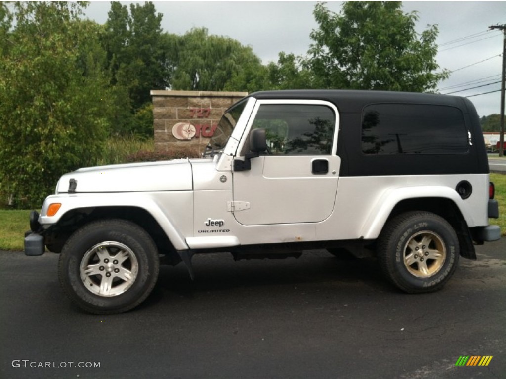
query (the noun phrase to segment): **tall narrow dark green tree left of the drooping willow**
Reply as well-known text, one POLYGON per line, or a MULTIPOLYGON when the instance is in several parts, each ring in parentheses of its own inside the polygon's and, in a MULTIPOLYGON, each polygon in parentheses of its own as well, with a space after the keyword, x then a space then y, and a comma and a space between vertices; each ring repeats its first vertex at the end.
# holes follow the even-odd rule
POLYGON ((151 103, 150 90, 168 87, 171 74, 167 69, 170 46, 161 20, 162 14, 156 13, 151 2, 131 4, 130 11, 126 5, 111 2, 102 44, 113 85, 113 134, 153 134, 152 127, 146 127, 143 109, 151 103))

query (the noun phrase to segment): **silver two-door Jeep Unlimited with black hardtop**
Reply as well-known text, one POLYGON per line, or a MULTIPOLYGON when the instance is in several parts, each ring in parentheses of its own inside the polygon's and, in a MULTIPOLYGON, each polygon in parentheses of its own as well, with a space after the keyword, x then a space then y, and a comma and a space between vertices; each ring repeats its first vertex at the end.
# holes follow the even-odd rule
POLYGON ((402 291, 441 289, 459 255, 500 238, 473 104, 436 94, 252 93, 201 159, 83 168, 30 215, 25 253, 61 253, 63 289, 92 313, 149 295, 159 264, 303 250, 374 255, 402 291))

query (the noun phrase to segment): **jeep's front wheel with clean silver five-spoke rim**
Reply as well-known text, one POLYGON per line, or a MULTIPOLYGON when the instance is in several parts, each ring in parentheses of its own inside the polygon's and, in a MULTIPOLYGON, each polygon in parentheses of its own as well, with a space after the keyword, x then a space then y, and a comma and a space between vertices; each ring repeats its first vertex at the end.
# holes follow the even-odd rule
POLYGON ((82 309, 128 311, 153 289, 159 270, 156 245, 130 221, 101 220, 78 229, 62 248, 60 283, 82 309))

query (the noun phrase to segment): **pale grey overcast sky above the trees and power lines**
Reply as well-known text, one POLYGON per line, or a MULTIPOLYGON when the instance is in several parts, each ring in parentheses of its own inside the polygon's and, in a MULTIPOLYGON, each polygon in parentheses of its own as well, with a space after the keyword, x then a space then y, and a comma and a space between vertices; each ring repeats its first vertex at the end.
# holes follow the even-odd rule
MULTIPOLYGON (((277 61, 279 52, 305 54, 311 43, 309 33, 317 27, 312 14, 315 2, 153 3, 156 11, 163 14, 161 26, 164 31, 184 34, 192 27, 204 26, 209 34, 226 35, 251 46, 264 63, 277 61)), ((341 11, 341 6, 342 2, 327 2, 327 8, 336 13, 341 11)), ((109 2, 92 1, 85 13, 90 19, 103 24, 109 9, 109 2)), ((488 27, 506 24, 506 2, 403 2, 403 10, 418 11, 418 31, 426 29, 427 25, 439 26, 438 64, 442 68, 456 70, 449 79, 440 83, 442 93, 500 80, 502 33, 488 31, 488 27), (472 35, 475 37, 446 44, 472 35), (463 68, 469 65, 472 66, 463 68), (466 85, 447 88, 460 84, 466 85)), ((470 96, 499 89, 500 83, 495 83, 455 94, 470 96)), ((500 112, 499 91, 470 99, 480 116, 500 112)))

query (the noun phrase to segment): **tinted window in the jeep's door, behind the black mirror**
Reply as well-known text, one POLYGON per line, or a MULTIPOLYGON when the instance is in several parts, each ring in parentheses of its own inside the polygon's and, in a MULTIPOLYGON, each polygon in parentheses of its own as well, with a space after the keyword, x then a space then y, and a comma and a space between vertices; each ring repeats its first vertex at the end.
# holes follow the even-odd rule
POLYGON ((273 155, 330 155, 334 112, 324 105, 264 104, 252 128, 265 128, 273 155))

